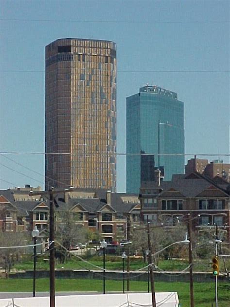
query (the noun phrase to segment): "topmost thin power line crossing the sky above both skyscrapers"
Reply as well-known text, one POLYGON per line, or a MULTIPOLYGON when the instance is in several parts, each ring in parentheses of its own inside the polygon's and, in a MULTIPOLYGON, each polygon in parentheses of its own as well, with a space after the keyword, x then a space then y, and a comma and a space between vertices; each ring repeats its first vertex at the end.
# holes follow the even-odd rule
POLYGON ((21 22, 66 22, 66 23, 134 23, 134 24, 158 24, 158 23, 164 23, 164 24, 181 24, 181 23, 188 23, 188 24, 196 24, 196 23, 229 23, 229 21, 221 20, 221 21, 186 21, 186 20, 177 20, 177 21, 171 21, 171 20, 60 20, 60 19, 18 19, 18 18, 0 18, 0 21, 21 21, 21 22))

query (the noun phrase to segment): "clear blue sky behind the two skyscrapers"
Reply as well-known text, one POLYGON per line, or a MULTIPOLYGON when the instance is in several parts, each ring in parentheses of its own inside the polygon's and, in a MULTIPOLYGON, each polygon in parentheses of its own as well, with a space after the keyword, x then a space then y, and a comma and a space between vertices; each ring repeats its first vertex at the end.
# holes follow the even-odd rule
MULTIPOLYGON (((118 153, 126 151, 126 97, 147 82, 184 101, 186 153, 229 153, 229 72, 124 71, 230 70, 230 1, 1 0, 0 18, 0 151, 44 151, 44 47, 79 37, 117 43, 118 153)), ((6 156, 37 173, 0 156, 8 181, 0 188, 43 184, 43 156, 6 156)), ((117 188, 125 191, 124 156, 117 188)))

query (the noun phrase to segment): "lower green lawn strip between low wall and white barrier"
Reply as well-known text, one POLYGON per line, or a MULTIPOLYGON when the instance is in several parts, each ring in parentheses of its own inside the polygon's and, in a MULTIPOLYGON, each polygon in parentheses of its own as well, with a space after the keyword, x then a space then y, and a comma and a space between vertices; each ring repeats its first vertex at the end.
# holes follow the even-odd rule
MULTIPOLYGON (((106 291, 122 291, 122 281, 106 280, 106 291)), ((182 307, 189 307, 189 283, 156 282, 156 291, 178 292, 182 307)), ((56 279, 56 291, 98 291, 102 292, 102 280, 56 279)), ((215 284, 194 283, 196 307, 211 307, 214 303, 215 284)), ((37 279, 36 290, 49 291, 49 279, 37 279)), ((32 279, 0 279, 1 292, 32 292, 32 279)), ((130 291, 147 291, 147 282, 131 281, 130 291)), ((230 284, 219 283, 219 307, 230 306, 230 284)))

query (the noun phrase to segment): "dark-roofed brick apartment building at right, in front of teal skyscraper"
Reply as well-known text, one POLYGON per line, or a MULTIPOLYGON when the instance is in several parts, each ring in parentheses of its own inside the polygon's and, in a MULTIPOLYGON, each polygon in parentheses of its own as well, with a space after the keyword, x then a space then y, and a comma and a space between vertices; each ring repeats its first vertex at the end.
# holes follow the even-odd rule
POLYGON ((193 230, 217 224, 230 244, 230 184, 221 177, 194 172, 173 175, 171 181, 143 182, 139 199, 144 223, 173 227, 189 213, 193 230))

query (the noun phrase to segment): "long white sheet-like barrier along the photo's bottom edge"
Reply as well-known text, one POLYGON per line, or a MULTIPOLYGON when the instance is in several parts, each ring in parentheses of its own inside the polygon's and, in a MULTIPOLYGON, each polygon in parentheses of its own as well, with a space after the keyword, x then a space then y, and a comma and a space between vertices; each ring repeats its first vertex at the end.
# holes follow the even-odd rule
MULTIPOLYGON (((56 307, 151 307, 151 293, 56 296, 56 307)), ((178 307, 177 292, 157 292, 157 307, 178 307)), ((49 307, 49 297, 1 299, 0 307, 49 307)))

